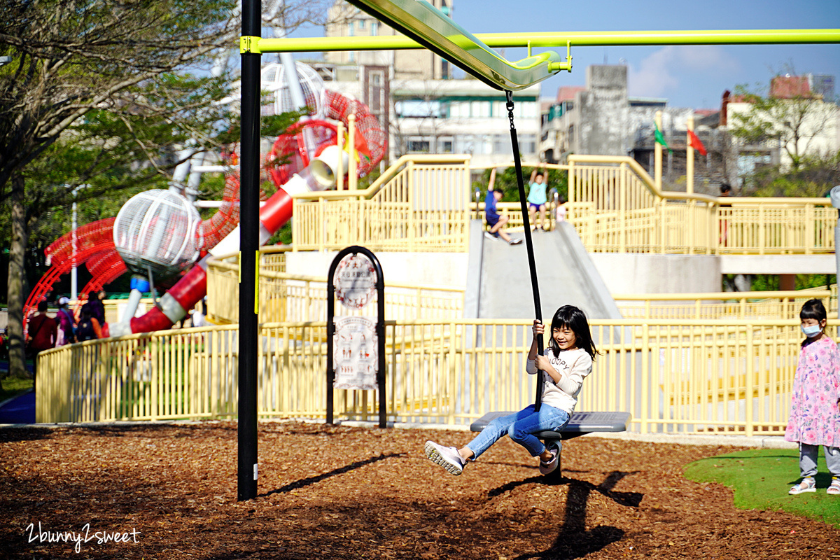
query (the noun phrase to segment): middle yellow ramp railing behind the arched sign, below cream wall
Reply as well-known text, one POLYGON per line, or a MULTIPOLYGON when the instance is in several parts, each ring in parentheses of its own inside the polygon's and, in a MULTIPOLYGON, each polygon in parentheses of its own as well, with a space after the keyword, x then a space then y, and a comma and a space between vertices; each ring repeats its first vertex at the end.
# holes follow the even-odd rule
MULTIPOLYGON (((269 253, 276 261, 276 253, 269 253)), ((207 314, 215 323, 239 322, 239 264, 237 256, 207 263, 207 314)), ((385 317, 393 321, 451 319, 464 314, 463 287, 388 282, 385 317)), ((367 314, 339 306, 342 315, 367 314)), ((260 322, 326 321, 327 279, 290 275, 270 267, 260 269, 260 322)))

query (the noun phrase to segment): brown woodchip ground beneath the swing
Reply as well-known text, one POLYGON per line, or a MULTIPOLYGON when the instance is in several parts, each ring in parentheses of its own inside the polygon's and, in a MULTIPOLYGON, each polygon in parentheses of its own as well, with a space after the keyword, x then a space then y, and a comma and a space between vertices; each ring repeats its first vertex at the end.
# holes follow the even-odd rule
POLYGON ((837 528, 683 478, 732 447, 584 437, 547 483, 507 438, 459 477, 427 439, 470 434, 261 423, 259 495, 238 502, 235 423, 5 428, 0 557, 840 558, 837 528), (49 542, 66 531, 77 547, 49 542))

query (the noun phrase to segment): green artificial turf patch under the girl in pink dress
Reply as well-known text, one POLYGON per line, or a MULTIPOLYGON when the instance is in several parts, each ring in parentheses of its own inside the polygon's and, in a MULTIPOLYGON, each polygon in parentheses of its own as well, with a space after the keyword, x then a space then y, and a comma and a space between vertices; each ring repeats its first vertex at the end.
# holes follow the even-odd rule
POLYGON ((827 495, 831 476, 822 446, 816 493, 788 495, 799 482, 799 450, 748 449, 705 458, 685 465, 685 477, 717 482, 734 492, 735 506, 744 510, 781 510, 840 527, 840 495, 827 495))

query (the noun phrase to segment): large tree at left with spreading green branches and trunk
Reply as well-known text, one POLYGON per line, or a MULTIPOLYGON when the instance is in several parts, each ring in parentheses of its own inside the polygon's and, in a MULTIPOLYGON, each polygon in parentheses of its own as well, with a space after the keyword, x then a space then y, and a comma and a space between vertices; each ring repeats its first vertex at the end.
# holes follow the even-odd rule
POLYGON ((159 180, 172 146, 212 144, 234 0, 19 0, 0 7, 0 201, 10 225, 12 373, 23 364, 29 232, 71 201, 159 180), (76 190, 77 186, 86 185, 76 190), (74 191, 76 195, 74 195, 74 191))

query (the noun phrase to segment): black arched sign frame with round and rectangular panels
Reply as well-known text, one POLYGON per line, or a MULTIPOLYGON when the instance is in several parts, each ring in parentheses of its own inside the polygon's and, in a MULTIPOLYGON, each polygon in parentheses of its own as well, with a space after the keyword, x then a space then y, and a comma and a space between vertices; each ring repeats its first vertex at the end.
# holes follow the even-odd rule
POLYGON ((386 427, 385 280, 379 259, 354 245, 339 251, 327 280, 327 423, 333 423, 333 391, 379 390, 379 427, 386 427), (335 300, 358 310, 376 296, 376 320, 335 317, 335 300))

